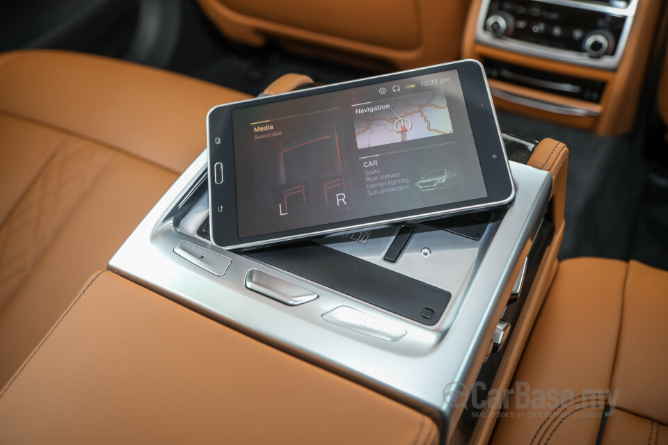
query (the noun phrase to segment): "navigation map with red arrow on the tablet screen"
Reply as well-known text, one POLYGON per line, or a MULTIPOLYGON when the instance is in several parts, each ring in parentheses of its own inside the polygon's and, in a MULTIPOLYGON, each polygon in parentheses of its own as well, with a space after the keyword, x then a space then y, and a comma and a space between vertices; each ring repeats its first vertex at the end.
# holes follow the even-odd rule
POLYGON ((443 90, 373 102, 353 116, 358 148, 452 133, 443 90))

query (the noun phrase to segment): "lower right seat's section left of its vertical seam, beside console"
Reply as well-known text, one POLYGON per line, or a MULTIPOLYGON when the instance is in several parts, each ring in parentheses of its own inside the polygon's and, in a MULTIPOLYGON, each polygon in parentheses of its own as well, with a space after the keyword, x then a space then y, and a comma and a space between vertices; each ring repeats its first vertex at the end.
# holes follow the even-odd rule
POLYGON ((612 259, 559 264, 492 444, 596 442, 610 388, 626 268, 612 259))

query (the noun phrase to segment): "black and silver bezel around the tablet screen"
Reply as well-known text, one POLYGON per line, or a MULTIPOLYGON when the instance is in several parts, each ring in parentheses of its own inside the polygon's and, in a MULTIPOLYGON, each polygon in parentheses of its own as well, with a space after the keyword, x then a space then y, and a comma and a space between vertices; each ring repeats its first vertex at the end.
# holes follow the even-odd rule
POLYGON ((317 236, 332 232, 347 232, 363 227, 373 227, 405 220, 420 220, 455 213, 490 209, 507 204, 515 195, 510 166, 493 107, 491 92, 484 74, 484 67, 477 60, 460 60, 452 63, 417 68, 415 70, 406 70, 215 106, 207 114, 207 145, 211 240, 214 245, 224 249, 267 245, 295 238, 317 236), (239 238, 236 169, 234 168, 232 131, 233 110, 450 70, 457 70, 459 74, 466 111, 475 140, 475 149, 477 150, 487 191, 486 197, 239 238), (216 138, 220 138, 218 143, 216 143, 216 138), (222 184, 216 184, 214 181, 213 169, 214 165, 218 162, 222 163, 223 168, 222 184), (502 167, 499 165, 502 165, 502 167))

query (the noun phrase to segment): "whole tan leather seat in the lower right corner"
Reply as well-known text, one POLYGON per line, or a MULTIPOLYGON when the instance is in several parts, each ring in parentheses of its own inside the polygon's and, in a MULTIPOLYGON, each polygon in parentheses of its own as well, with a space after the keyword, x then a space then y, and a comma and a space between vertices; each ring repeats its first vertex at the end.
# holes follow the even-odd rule
POLYGON ((668 444, 667 318, 668 272, 563 261, 491 443, 668 444))

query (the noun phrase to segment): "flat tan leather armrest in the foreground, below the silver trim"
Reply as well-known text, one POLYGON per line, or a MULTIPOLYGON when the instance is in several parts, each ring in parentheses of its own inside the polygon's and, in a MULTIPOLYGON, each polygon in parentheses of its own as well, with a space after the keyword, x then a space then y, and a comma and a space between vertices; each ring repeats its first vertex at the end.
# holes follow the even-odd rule
POLYGON ((438 428, 100 272, 0 392, 0 442, 408 445, 438 428))

